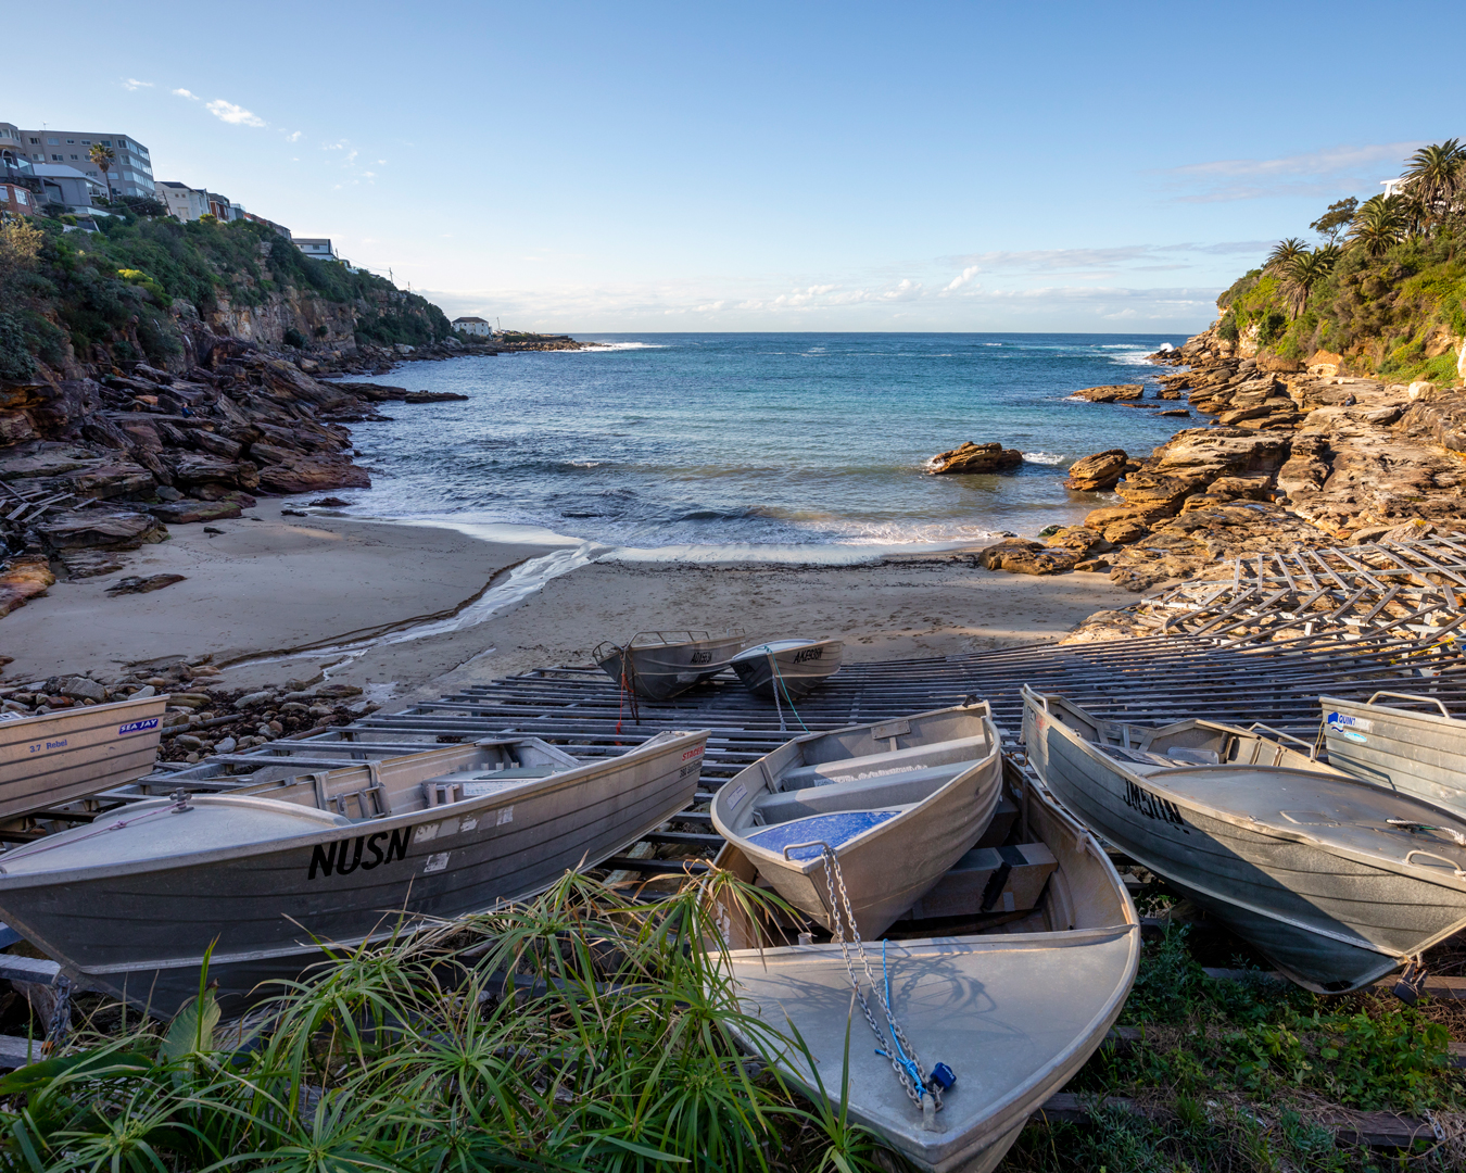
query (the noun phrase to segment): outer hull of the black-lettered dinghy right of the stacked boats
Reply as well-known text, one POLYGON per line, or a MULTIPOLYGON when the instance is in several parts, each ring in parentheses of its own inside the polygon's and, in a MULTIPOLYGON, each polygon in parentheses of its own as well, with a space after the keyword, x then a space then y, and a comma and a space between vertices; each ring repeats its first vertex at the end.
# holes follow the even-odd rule
MULTIPOLYGON (((1294 836, 1229 818, 1177 799, 1160 779, 1152 790, 1034 695, 1023 727, 1039 777, 1079 821, 1211 911, 1299 985, 1358 990, 1466 924, 1466 890, 1447 869, 1432 875, 1372 862, 1311 840, 1306 827, 1294 836)), ((1299 770, 1249 768, 1272 771, 1280 784, 1306 783, 1299 770)))

